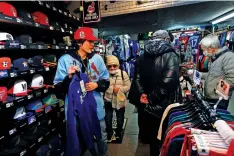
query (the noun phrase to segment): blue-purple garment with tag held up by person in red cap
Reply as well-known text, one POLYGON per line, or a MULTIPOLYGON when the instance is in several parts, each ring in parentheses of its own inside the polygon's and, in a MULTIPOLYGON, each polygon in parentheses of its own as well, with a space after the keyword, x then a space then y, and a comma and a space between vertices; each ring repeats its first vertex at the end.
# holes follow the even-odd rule
POLYGON ((86 74, 74 75, 68 90, 67 156, 79 155, 77 132, 81 133, 88 149, 94 148, 93 136, 101 138, 97 103, 93 92, 82 92, 80 85, 82 80, 84 84, 88 83, 86 74), (79 128, 77 129, 77 127, 79 128))

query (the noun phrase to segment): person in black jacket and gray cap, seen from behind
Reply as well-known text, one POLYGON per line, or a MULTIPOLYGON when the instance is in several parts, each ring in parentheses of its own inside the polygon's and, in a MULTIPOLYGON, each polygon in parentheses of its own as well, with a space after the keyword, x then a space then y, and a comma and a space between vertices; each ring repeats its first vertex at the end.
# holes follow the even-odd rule
POLYGON ((179 57, 170 44, 167 31, 158 30, 153 34, 145 45, 144 54, 137 60, 136 70, 137 75, 132 85, 136 85, 141 94, 136 98, 141 102, 138 111, 144 111, 142 135, 149 140, 150 155, 156 156, 159 155, 160 148, 156 136, 163 111, 181 97, 179 57))

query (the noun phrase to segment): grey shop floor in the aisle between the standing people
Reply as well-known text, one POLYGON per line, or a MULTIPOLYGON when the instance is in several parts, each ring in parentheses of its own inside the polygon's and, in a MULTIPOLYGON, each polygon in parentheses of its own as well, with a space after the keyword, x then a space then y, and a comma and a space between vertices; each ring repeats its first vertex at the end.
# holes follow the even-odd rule
MULTIPOLYGON (((108 156, 149 156, 149 146, 138 142, 137 113, 128 104, 125 118, 128 118, 122 144, 108 144, 108 156)), ((91 156, 86 152, 85 156, 91 156)))

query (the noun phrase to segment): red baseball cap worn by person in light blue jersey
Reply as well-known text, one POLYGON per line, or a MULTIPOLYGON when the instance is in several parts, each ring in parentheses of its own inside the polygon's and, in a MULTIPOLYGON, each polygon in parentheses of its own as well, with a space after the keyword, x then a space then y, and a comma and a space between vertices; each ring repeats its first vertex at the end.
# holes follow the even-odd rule
POLYGON ((93 29, 89 27, 80 27, 76 30, 74 34, 74 40, 90 40, 97 41, 99 40, 95 37, 93 29))

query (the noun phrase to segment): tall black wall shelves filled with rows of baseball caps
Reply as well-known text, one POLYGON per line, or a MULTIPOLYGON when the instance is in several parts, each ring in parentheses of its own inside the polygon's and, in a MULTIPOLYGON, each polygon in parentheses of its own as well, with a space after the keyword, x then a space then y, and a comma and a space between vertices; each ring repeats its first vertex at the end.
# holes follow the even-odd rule
POLYGON ((64 155, 64 100, 53 79, 81 22, 61 3, 0 2, 0 156, 64 155))

